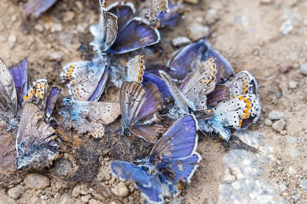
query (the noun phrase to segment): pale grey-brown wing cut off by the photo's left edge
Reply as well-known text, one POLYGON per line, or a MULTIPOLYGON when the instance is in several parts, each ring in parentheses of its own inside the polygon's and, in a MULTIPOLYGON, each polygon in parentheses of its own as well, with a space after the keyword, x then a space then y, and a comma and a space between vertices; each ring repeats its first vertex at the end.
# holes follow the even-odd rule
MULTIPOLYGON (((0 58, 0 115, 13 118, 17 108, 17 94, 9 68, 0 58)), ((2 124, 6 125, 6 124, 2 124)))

